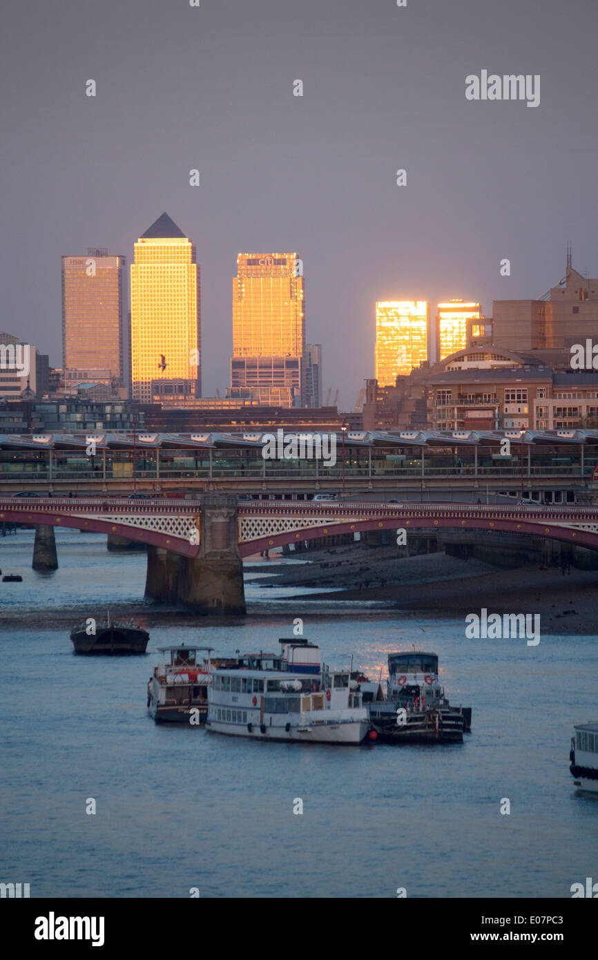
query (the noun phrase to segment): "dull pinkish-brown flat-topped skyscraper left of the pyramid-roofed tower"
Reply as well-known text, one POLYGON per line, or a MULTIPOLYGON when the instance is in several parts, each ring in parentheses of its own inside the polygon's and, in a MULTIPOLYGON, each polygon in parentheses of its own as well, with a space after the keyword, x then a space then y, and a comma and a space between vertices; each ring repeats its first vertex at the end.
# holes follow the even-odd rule
POLYGON ((125 262, 124 256, 109 256, 105 247, 62 257, 62 366, 74 382, 113 378, 127 386, 125 262))

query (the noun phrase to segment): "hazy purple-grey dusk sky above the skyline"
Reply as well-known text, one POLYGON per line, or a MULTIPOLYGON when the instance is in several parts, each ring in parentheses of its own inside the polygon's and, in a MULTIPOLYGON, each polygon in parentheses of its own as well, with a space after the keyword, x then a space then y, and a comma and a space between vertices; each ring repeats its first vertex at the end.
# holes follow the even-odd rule
POLYGON ((60 367, 61 254, 129 264, 167 211, 201 265, 203 396, 237 253, 297 251, 324 397, 352 409, 376 300, 491 316, 558 283, 567 242, 598 275, 597 39, 596 0, 4 0, 0 330, 60 367), (538 107, 467 100, 483 70, 539 75, 538 107))

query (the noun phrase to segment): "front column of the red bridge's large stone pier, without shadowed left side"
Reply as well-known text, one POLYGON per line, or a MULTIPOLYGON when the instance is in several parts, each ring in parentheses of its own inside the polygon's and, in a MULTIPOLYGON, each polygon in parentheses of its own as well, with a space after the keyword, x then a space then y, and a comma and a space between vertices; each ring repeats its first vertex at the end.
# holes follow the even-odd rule
POLYGON ((243 616, 245 588, 236 496, 206 493, 200 530, 197 556, 182 558, 179 603, 202 615, 243 616))

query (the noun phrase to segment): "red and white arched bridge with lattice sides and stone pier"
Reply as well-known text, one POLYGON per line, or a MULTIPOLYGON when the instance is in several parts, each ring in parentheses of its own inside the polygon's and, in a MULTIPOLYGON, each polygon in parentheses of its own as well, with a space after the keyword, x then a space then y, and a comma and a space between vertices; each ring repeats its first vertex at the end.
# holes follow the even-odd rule
POLYGON ((360 501, 7 497, 0 524, 36 526, 34 568, 58 565, 54 528, 147 544, 146 596, 199 613, 245 612, 243 558, 286 543, 371 530, 505 531, 598 551, 598 506, 360 501))

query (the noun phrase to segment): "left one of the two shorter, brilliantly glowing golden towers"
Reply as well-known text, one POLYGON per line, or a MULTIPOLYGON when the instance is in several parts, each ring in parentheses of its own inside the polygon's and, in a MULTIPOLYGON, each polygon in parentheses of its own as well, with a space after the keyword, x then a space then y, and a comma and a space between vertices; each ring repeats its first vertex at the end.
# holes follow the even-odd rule
POLYGON ((427 300, 378 300, 375 378, 379 386, 394 387, 399 373, 410 373, 427 358, 427 300))

